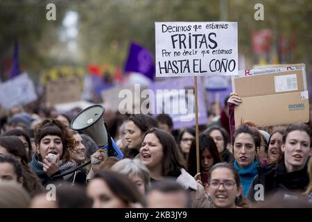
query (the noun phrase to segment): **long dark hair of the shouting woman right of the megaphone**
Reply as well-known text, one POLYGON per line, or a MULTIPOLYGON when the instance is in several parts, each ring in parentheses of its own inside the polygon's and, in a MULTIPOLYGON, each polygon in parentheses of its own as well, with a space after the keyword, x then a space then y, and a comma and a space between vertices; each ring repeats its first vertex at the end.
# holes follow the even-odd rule
POLYGON ((162 144, 164 161, 162 162, 162 176, 180 176, 181 168, 185 168, 182 160, 182 155, 177 151, 177 145, 172 135, 158 128, 151 128, 146 132, 146 135, 153 133, 162 144))

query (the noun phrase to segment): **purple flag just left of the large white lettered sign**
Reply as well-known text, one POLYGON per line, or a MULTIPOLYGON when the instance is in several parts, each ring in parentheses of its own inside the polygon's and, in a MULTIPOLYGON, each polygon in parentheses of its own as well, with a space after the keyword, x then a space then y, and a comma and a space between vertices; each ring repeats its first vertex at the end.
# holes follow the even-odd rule
POLYGON ((125 71, 135 71, 154 80, 155 62, 152 53, 139 44, 131 43, 125 71))

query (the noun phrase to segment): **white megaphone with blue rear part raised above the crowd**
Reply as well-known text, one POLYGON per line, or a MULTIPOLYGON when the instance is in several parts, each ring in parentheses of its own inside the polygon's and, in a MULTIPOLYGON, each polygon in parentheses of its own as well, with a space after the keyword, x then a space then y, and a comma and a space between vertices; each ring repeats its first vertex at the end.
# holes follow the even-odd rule
POLYGON ((123 153, 108 133, 107 126, 103 121, 104 112, 103 105, 91 105, 85 108, 73 118, 71 129, 87 134, 94 140, 98 148, 106 149, 109 156, 122 159, 123 153))

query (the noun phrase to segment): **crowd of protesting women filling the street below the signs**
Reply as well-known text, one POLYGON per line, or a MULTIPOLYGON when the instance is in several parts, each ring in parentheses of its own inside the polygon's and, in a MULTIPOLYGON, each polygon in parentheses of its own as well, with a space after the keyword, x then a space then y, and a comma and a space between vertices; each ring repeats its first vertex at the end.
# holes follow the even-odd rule
POLYGON ((199 171, 195 127, 173 130, 168 114, 106 107, 116 157, 72 130, 81 109, 15 105, 1 119, 0 207, 311 207, 312 125, 235 127, 227 110, 241 103, 230 94, 226 121, 200 125, 199 171))

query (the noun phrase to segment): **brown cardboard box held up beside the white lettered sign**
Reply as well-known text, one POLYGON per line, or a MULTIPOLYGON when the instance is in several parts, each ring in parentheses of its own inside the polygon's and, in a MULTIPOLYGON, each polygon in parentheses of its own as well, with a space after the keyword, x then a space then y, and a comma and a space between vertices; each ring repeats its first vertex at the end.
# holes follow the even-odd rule
POLYGON ((304 69, 234 78, 242 98, 235 106, 235 127, 243 121, 258 126, 309 121, 309 93, 304 69))

